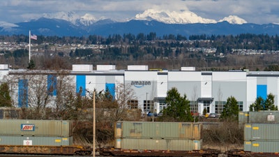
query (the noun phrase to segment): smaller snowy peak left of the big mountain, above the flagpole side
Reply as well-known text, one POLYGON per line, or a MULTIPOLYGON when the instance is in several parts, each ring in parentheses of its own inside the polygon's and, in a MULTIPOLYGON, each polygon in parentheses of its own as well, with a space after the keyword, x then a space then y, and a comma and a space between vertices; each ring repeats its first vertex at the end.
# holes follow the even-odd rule
POLYGON ((68 22, 71 22, 72 24, 75 25, 84 25, 84 26, 89 26, 93 23, 95 23, 96 17, 93 15, 86 13, 83 16, 77 15, 75 12, 59 12, 59 13, 54 13, 54 14, 43 14, 43 17, 47 19, 59 19, 59 20, 66 20, 68 22))

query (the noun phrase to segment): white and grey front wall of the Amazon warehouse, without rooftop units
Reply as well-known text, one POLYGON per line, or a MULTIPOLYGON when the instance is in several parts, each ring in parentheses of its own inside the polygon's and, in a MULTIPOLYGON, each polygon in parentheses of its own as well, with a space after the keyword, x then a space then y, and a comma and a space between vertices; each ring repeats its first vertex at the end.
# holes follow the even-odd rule
MULTIPOLYGON (((8 73, 8 77, 17 77, 13 80, 12 98, 15 105, 18 103, 18 78, 27 77, 24 70, 13 70, 13 73, 5 70, 1 73, 3 78, 8 73), (15 71, 17 73, 15 73, 15 71)), ((31 70, 29 70, 30 72, 31 70)), ((34 71, 36 75, 42 76, 47 80, 46 73, 50 70, 34 71)), ((181 70, 93 70, 89 72, 70 71, 69 78, 74 87, 77 82, 77 75, 84 75, 85 89, 88 91, 105 90, 106 84, 130 84, 135 91, 138 100, 138 107, 143 108, 144 100, 154 100, 154 98, 165 98, 167 91, 176 87, 181 96, 186 94, 188 100, 199 100, 199 111, 202 111, 202 100, 211 100, 210 112, 214 112, 215 102, 218 100, 226 101, 230 96, 243 102, 243 111, 249 110, 249 105, 254 103, 257 98, 257 85, 264 84, 267 87, 267 94, 275 95, 275 105, 278 104, 279 91, 279 72, 246 73, 244 71, 181 71, 181 70), (140 83, 140 84, 136 84, 140 83)), ((31 94, 31 84, 30 94, 31 94)), ((86 92, 86 96, 87 96, 86 92)), ((52 102, 53 103, 53 102, 52 102)), ((156 104, 158 110, 158 104, 156 104)), ((159 112, 159 110, 158 110, 159 112)))

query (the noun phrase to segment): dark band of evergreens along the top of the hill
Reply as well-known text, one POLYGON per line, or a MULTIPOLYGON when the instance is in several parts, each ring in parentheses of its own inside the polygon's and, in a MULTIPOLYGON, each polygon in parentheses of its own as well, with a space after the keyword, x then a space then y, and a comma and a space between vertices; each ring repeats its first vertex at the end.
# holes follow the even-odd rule
MULTIPOLYGON (((161 47, 219 47, 220 50, 234 49, 252 49, 252 50, 279 50, 279 36, 269 36, 268 34, 241 33, 232 35, 191 35, 182 36, 180 34, 168 34, 156 36, 156 32, 149 34, 132 33, 113 34, 107 37, 90 36, 38 36, 38 40, 32 40, 32 43, 55 43, 55 44, 95 44, 95 45, 151 45, 149 41, 157 41, 161 47), (194 43, 181 43, 180 41, 192 40, 194 43), (211 42, 201 42, 207 40, 211 42)), ((0 42, 29 43, 29 36, 13 35, 0 36, 0 42)), ((223 51, 224 52, 224 51, 223 51)))

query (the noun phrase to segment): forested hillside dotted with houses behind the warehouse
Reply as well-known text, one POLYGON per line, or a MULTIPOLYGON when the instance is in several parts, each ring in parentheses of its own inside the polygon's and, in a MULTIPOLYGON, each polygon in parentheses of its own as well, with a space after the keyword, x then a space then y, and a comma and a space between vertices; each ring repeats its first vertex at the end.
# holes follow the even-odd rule
MULTIPOLYGON (((29 37, 0 36, 0 61, 25 68, 28 63, 29 37)), ((179 69, 195 66, 197 70, 250 68, 264 70, 278 63, 279 36, 243 33, 236 36, 156 33, 114 34, 103 37, 38 36, 32 40, 37 68, 71 68, 73 63, 145 64, 149 68, 179 69), (59 65, 54 66, 53 57, 59 65)))

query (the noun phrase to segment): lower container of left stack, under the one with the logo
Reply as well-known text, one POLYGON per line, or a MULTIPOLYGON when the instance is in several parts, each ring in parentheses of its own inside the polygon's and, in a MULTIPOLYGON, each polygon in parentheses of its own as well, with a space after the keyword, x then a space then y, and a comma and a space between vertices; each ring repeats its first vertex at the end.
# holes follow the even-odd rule
POLYGON ((5 136, 0 135, 1 145, 40 145, 40 146, 70 146, 73 145, 73 136, 70 137, 38 137, 38 136, 5 136))

